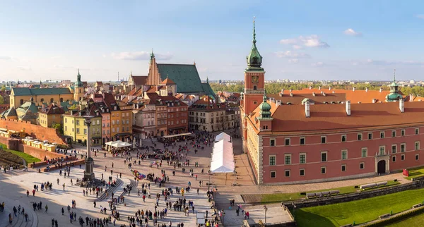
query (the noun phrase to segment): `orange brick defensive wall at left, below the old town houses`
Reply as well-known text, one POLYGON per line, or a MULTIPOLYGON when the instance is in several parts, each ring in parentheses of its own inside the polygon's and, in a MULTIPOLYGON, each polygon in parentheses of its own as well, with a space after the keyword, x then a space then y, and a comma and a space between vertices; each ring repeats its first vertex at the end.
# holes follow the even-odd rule
POLYGON ((37 138, 38 140, 49 140, 49 142, 56 142, 59 145, 66 145, 64 140, 57 135, 57 131, 54 128, 44 128, 40 125, 33 125, 29 121, 0 119, 0 128, 16 131, 25 129, 25 133, 30 137, 37 138))

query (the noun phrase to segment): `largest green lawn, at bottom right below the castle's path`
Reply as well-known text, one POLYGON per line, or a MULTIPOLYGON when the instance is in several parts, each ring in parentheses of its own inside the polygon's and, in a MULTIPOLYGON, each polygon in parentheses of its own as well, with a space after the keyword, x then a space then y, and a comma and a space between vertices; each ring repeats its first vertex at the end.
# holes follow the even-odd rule
POLYGON ((365 200, 296 209, 295 219, 300 227, 343 226, 353 221, 364 223, 391 211, 395 214, 411 209, 412 205, 423 202, 423 193, 424 188, 406 190, 365 200))

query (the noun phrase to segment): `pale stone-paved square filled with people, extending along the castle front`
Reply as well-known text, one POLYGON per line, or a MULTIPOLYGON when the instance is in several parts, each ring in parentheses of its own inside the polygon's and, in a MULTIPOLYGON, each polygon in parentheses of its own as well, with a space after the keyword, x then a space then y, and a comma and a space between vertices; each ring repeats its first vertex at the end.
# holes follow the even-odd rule
MULTIPOLYGON (((215 133, 216 135, 217 133, 215 133)), ((153 145, 155 141, 143 140, 143 145, 153 145)), ((163 148, 163 144, 160 142, 155 142, 156 148, 163 148)), ((185 145, 184 142, 179 142, 177 145, 185 145)), ((211 177, 211 182, 217 186, 218 193, 216 193, 216 205, 218 209, 225 210, 225 226, 241 226, 242 220, 244 216, 240 213, 240 216, 236 216, 235 208, 237 205, 241 205, 245 211, 249 211, 250 219, 254 222, 258 222, 259 220, 264 221, 264 208, 262 206, 252 206, 249 204, 245 204, 240 195, 254 195, 261 193, 276 193, 276 192, 301 192, 308 190, 324 190, 328 188, 338 188, 342 186, 350 186, 350 185, 360 185, 363 183, 371 183, 382 180, 393 180, 397 178, 401 181, 401 183, 406 183, 407 181, 401 176, 401 173, 395 173, 386 176, 376 176, 373 178, 360 178, 354 180, 343 180, 343 181, 334 181, 334 182, 326 182, 326 183, 311 183, 311 184, 298 184, 298 185, 266 185, 266 186, 258 186, 254 185, 254 177, 252 176, 252 168, 249 166, 249 162, 247 160, 247 155, 242 154, 242 144, 240 139, 235 139, 233 141, 234 153, 235 153, 235 161, 236 161, 236 171, 237 171, 237 179, 233 174, 216 174, 211 177), (236 183, 237 186, 234 186, 233 183, 236 183), (229 201, 235 200, 235 206, 229 206, 229 201)), ((97 150, 99 147, 95 147, 97 150)), ((86 152, 84 147, 75 147, 79 154, 83 154, 86 152)), ((176 150, 177 147, 175 147, 176 150)), ((208 186, 206 183, 208 182, 208 168, 210 164, 210 157, 212 152, 212 147, 204 147, 204 149, 198 149, 199 152, 194 154, 194 148, 191 148, 191 151, 188 153, 188 159, 190 160, 190 166, 185 167, 187 171, 182 173, 182 168, 176 169, 175 176, 172 176, 173 166, 167 166, 166 161, 163 162, 160 168, 150 167, 152 159, 147 159, 141 161, 141 164, 138 163, 133 164, 132 169, 139 171, 143 174, 155 173, 155 176, 160 176, 160 171, 164 170, 167 173, 167 176, 170 177, 170 183, 167 183, 165 187, 172 187, 175 190, 175 186, 187 187, 187 183, 192 184, 192 189, 190 193, 185 193, 187 201, 193 200, 195 206, 195 212, 204 212, 208 210, 209 214, 212 211, 209 209, 210 204, 208 203, 206 197, 206 191, 208 190, 208 186), (198 162, 199 166, 194 167, 194 163, 198 162), (194 177, 189 176, 189 168, 193 168, 194 177), (201 173, 201 170, 204 169, 204 173, 201 173), (197 175, 197 179, 195 176, 197 175), (203 185, 199 186, 199 180, 203 180, 203 185), (196 193, 196 189, 199 188, 199 195, 196 193)), ((131 157, 135 157, 136 152, 131 152, 131 157)), ((94 153, 92 154, 94 156, 94 153)), ((120 178, 123 184, 114 192, 115 195, 121 195, 123 192, 123 188, 125 185, 130 183, 130 180, 134 180, 134 176, 131 174, 131 169, 128 167, 128 163, 124 164, 125 157, 112 157, 109 152, 99 151, 97 152, 96 157, 93 157, 95 160, 95 176, 96 178, 101 178, 103 176, 107 179, 110 176, 110 170, 113 170, 112 177, 119 178, 119 173, 122 173, 122 178, 120 178), (106 157, 104 154, 106 153, 106 157), (112 168, 112 163, 114 167, 112 168), (106 171, 105 171, 106 166, 106 171)), ((134 159, 135 160, 135 159, 134 159)), ((11 226, 8 225, 8 213, 12 212, 11 208, 13 206, 18 207, 20 204, 21 207, 26 207, 25 210, 32 209, 32 202, 42 202, 42 210, 40 211, 32 211, 28 213, 30 219, 37 219, 38 226, 51 226, 51 220, 57 219, 59 222, 59 226, 79 226, 78 225, 78 216, 81 216, 85 219, 86 216, 91 218, 97 217, 106 217, 105 214, 100 214, 100 210, 98 207, 108 207, 107 201, 110 200, 110 197, 107 200, 97 202, 97 205, 93 207, 93 200, 95 199, 95 195, 88 195, 88 197, 83 196, 83 189, 76 185, 71 185, 70 179, 73 179, 73 183, 76 183, 76 178, 83 177, 83 170, 85 166, 75 166, 71 168, 71 177, 64 178, 64 176, 59 176, 59 170, 51 171, 48 173, 36 173, 35 170, 30 169, 28 172, 23 171, 11 171, 8 173, 0 173, 0 202, 5 202, 6 210, 3 213, 0 213, 0 227, 3 226, 11 226), (59 178, 59 185, 57 184, 57 179, 59 178), (33 185, 40 185, 44 182, 52 182, 53 189, 51 191, 45 190, 41 191, 40 189, 35 193, 35 197, 33 197, 32 193, 27 197, 26 191, 30 192, 33 190, 33 185), (62 184, 65 183, 65 190, 63 190, 62 184), (66 214, 64 216, 61 215, 61 208, 71 205, 71 201, 76 201, 76 209, 72 209, 72 211, 76 212, 77 221, 70 223, 69 216, 66 210, 66 214), (45 213, 45 204, 48 205, 48 212, 45 213)), ((159 188, 158 185, 155 185, 151 182, 151 199, 146 199, 146 202, 143 202, 142 198, 137 195, 137 191, 141 189, 141 182, 136 185, 136 188, 133 188, 131 191, 131 195, 124 195, 125 197, 125 205, 119 204, 117 206, 117 210, 121 214, 121 221, 117 221, 117 226, 121 224, 126 224, 127 216, 134 216, 134 211, 138 209, 150 209, 154 211, 154 202, 155 202, 155 194, 157 192, 161 192, 162 188, 159 188)), ((181 195, 175 194, 170 197, 170 201, 174 202, 181 195)), ((159 202, 158 210, 162 210, 164 208, 163 197, 159 202)), ((287 212, 283 211, 279 204, 269 205, 267 211, 267 222, 284 222, 289 221, 290 216, 287 212)), ((109 211, 109 210, 108 210, 109 211)), ((158 223, 168 223, 168 221, 172 221, 172 226, 177 226, 177 223, 183 222, 184 226, 196 226, 195 216, 190 213, 189 216, 184 216, 182 212, 179 211, 171 211, 168 209, 168 214, 165 219, 158 219, 158 223)), ((152 223, 149 222, 149 226, 153 226, 152 223)), ((31 221, 28 224, 23 222, 23 217, 15 217, 13 220, 12 226, 31 226, 31 221), (19 224, 21 223, 21 224, 19 224)), ((34 226, 35 227, 35 226, 34 226)))

